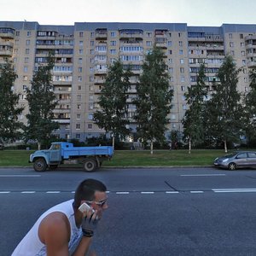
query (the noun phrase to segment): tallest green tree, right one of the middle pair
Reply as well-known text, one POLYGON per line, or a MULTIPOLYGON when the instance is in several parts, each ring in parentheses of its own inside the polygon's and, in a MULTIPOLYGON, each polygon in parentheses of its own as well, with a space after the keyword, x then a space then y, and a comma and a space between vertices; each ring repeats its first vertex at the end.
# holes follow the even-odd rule
POLYGON ((137 98, 133 101, 137 112, 137 134, 144 143, 150 142, 150 153, 153 154, 154 141, 165 141, 166 125, 169 122, 172 90, 169 87, 169 76, 166 72, 164 54, 154 47, 146 55, 143 73, 137 84, 137 98))

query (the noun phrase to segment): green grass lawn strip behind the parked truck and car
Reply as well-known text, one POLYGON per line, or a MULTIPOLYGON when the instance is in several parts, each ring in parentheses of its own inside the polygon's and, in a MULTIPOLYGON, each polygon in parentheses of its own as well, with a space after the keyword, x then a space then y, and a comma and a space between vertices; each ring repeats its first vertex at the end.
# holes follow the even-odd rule
MULTIPOLYGON (((229 153, 233 151, 230 150, 229 153)), ((1 150, 0 166, 32 166, 28 163, 32 150, 1 150)), ((188 150, 116 150, 110 161, 102 166, 212 166, 217 156, 224 155, 224 150, 194 149, 188 150)))

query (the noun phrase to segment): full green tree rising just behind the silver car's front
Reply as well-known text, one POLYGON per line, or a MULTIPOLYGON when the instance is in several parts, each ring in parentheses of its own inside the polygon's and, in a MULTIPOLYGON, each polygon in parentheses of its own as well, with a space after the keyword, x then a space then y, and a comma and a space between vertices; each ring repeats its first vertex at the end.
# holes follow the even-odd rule
POLYGON ((241 94, 237 91, 239 72, 233 58, 226 56, 218 70, 219 82, 214 85, 215 92, 207 102, 207 131, 215 139, 224 142, 225 152, 227 142, 236 141, 242 128, 241 94))

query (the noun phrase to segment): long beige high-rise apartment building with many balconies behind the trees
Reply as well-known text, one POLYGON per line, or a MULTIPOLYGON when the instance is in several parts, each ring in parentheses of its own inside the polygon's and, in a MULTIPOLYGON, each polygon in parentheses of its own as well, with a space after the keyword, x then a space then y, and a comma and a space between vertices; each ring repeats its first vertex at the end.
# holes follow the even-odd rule
POLYGON ((136 109, 131 102, 136 97, 145 55, 154 44, 165 53, 170 87, 174 91, 168 132, 183 129, 181 119, 187 109, 184 92, 196 84, 201 63, 207 68, 209 96, 225 55, 232 55, 237 67, 241 67, 238 89, 249 90, 248 71, 256 67, 256 25, 84 22, 73 26, 45 26, 38 22, 0 21, 0 63, 6 57, 15 62, 18 74, 15 92, 20 94, 20 106, 25 108, 20 120, 26 123, 25 91, 32 74, 44 65, 49 51, 53 50, 53 84, 58 99, 55 120, 60 123, 55 134, 80 141, 104 133, 93 122, 93 113, 99 109, 97 97, 108 66, 117 59, 125 66, 131 65, 134 73, 128 111, 130 128, 136 131, 132 119, 136 109))

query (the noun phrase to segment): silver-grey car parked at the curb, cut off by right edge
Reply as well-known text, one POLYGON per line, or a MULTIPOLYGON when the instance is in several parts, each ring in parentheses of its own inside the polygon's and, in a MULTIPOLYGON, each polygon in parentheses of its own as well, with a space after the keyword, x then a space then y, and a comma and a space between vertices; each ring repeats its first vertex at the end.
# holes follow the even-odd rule
POLYGON ((218 157, 213 162, 214 166, 236 170, 237 168, 256 168, 255 151, 236 151, 233 154, 227 154, 218 157))

